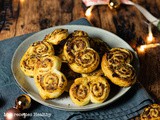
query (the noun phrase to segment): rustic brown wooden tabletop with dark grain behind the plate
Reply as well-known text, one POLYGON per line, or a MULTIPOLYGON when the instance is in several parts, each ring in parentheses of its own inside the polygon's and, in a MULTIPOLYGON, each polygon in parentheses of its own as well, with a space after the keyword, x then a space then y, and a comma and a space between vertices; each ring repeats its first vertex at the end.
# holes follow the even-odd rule
MULTIPOLYGON (((132 0, 160 18, 159 0, 132 0)), ((85 17, 87 7, 82 0, 0 0, 0 40, 42 29, 64 25, 85 17)), ((95 6, 87 19, 93 26, 117 34, 135 50, 146 41, 148 22, 134 6, 121 5, 110 9, 107 5, 95 6)), ((160 42, 160 31, 152 26, 156 42, 160 42)), ((160 46, 138 53, 140 74, 138 80, 160 103, 160 46)))

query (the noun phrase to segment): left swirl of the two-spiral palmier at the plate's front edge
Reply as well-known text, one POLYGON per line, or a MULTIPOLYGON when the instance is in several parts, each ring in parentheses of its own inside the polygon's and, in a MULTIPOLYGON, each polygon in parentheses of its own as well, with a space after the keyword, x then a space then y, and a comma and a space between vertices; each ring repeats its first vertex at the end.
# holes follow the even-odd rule
POLYGON ((69 95, 73 103, 84 106, 90 101, 90 88, 88 78, 82 77, 74 80, 69 90, 69 95))

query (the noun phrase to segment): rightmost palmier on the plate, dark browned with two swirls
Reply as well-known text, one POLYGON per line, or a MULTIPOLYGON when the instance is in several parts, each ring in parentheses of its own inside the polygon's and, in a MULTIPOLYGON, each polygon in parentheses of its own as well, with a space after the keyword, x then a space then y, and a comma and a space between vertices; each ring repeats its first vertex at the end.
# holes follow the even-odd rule
POLYGON ((101 68, 114 84, 127 87, 136 81, 136 72, 130 64, 133 59, 132 53, 124 48, 112 48, 109 53, 105 53, 101 68))

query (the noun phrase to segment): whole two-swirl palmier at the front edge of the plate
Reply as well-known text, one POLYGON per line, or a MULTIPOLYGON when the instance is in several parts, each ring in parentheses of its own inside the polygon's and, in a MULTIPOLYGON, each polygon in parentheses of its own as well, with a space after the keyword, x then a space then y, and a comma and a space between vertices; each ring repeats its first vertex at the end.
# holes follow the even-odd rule
POLYGON ((107 80, 100 76, 81 77, 75 79, 69 95, 73 103, 78 106, 92 103, 104 102, 110 92, 110 85, 107 80))

